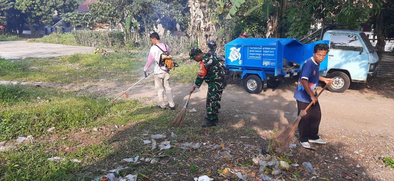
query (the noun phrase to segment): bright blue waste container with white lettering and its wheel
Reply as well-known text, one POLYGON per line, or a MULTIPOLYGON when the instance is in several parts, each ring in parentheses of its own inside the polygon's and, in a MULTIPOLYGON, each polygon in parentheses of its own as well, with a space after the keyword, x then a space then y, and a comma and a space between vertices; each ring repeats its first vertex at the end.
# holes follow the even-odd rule
POLYGON ((319 42, 328 43, 303 44, 292 38, 237 38, 226 44, 227 76, 243 80, 248 93, 259 94, 267 86, 276 87, 281 80, 297 76, 303 61, 312 56, 313 46, 319 42))

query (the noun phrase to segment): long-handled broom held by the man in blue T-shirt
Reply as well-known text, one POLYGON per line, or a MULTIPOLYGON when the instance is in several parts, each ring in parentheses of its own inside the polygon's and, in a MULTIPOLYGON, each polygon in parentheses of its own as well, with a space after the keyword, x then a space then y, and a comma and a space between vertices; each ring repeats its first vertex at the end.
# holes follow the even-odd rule
MULTIPOLYGON (((323 93, 323 91, 327 88, 328 84, 324 86, 324 88, 319 92, 318 96, 323 93)), ((301 121, 301 118, 306 115, 306 111, 312 106, 313 102, 310 102, 309 105, 305 108, 305 110, 300 111, 300 115, 298 115, 297 119, 291 122, 286 128, 283 128, 277 135, 275 135, 275 139, 278 141, 279 147, 283 147, 286 143, 291 141, 291 138, 294 135, 295 130, 298 128, 298 124, 301 121)))

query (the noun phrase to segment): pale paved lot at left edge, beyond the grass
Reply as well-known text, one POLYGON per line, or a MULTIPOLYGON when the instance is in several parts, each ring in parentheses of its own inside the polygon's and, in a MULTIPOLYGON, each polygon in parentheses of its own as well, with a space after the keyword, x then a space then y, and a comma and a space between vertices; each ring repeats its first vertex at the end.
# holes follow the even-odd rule
POLYGON ((93 47, 66 46, 52 43, 30 43, 27 41, 0 41, 0 57, 17 58, 48 58, 75 53, 92 53, 93 47))

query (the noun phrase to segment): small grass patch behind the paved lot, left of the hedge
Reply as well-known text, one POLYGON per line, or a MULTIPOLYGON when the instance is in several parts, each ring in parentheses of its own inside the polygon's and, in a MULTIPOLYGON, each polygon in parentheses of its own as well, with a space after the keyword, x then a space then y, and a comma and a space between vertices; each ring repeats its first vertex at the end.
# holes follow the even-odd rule
POLYGON ((77 45, 75 36, 72 33, 52 33, 42 38, 29 39, 28 42, 43 42, 55 44, 77 45))

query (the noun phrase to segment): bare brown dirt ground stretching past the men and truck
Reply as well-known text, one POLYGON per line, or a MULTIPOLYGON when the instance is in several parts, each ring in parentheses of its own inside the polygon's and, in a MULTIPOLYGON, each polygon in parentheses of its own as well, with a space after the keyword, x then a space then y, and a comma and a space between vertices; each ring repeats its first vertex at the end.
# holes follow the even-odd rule
MULTIPOLYGON (((40 84, 40 83, 31 83, 40 84)), ((130 85, 114 82, 89 83, 86 86, 43 84, 81 90, 79 93, 116 97, 130 85)), ((191 85, 172 86, 175 104, 179 111, 191 85)), ((394 171, 385 168, 382 158, 394 156, 394 89, 393 84, 355 84, 345 93, 325 91, 319 98, 322 108, 320 135, 329 143, 316 145, 317 151, 292 149, 292 160, 310 162, 321 177, 344 180, 349 174, 353 180, 392 180, 394 171), (383 87, 383 88, 382 88, 383 87)), ((248 94, 241 85, 230 84, 224 90, 221 105, 221 138, 245 144, 266 144, 274 129, 280 129, 297 117, 293 99, 295 83, 282 83, 277 89, 268 88, 258 95, 248 94), (240 139, 245 130, 254 136, 240 139)), ((205 116, 206 84, 192 95, 188 108, 189 124, 198 126, 205 116)), ((156 104, 157 95, 152 78, 132 88, 129 99, 156 104)), ((217 137, 216 135, 215 137, 217 137)), ((210 139, 207 136, 206 139, 210 139)), ((214 138, 212 138, 214 139, 214 138)))

